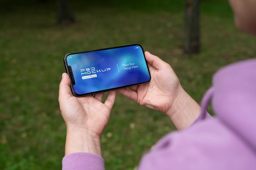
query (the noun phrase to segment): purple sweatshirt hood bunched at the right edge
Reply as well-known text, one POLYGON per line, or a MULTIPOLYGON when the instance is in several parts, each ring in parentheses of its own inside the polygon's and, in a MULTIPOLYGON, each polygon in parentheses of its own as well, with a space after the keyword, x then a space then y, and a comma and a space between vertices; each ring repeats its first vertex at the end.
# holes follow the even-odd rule
POLYGON ((256 150, 256 59, 216 72, 211 102, 218 119, 256 150))

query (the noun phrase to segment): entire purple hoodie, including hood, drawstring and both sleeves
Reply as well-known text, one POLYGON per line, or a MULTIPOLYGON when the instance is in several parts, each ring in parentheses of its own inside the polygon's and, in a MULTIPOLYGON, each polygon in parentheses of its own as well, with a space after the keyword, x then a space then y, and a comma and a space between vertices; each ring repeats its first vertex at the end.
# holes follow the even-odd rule
MULTIPOLYGON (((187 129, 163 137, 138 170, 256 170, 256 59, 237 62, 213 76, 202 113, 187 129), (207 106, 216 114, 211 118, 207 106)), ((102 157, 73 153, 63 170, 104 170, 102 157)))

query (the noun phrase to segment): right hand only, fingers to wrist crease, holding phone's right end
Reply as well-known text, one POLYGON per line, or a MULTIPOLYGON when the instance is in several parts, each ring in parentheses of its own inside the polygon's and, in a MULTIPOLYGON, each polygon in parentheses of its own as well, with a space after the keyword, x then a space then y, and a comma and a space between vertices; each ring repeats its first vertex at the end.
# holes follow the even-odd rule
POLYGON ((138 104, 166 113, 182 86, 168 63, 148 51, 145 52, 145 57, 151 75, 150 82, 117 91, 138 104))

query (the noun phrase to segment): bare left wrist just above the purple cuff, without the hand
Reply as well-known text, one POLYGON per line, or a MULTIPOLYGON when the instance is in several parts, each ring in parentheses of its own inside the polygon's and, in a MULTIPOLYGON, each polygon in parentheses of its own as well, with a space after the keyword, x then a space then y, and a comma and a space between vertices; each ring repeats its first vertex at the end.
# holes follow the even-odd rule
POLYGON ((101 156, 100 136, 84 128, 67 128, 65 155, 75 152, 101 156))

